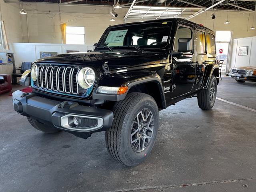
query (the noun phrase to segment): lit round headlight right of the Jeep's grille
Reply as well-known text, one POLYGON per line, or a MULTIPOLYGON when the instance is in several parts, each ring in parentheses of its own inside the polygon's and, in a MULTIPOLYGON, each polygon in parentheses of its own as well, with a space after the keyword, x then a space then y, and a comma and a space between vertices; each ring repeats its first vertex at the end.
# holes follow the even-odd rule
POLYGON ((95 72, 90 67, 82 68, 77 75, 77 82, 84 89, 90 88, 95 82, 95 72))

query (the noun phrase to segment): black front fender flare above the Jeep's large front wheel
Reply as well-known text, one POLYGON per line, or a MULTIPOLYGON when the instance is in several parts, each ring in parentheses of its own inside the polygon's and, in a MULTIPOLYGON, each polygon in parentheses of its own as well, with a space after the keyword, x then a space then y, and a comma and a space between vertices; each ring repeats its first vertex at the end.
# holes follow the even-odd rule
MULTIPOLYGON (((98 100, 108 100, 108 101, 120 101, 124 100, 129 90, 137 85, 145 84, 148 82, 156 83, 158 87, 158 92, 160 94, 162 107, 166 108, 166 100, 164 96, 164 89, 162 86, 162 81, 160 76, 155 71, 148 70, 138 70, 138 71, 129 71, 122 72, 117 74, 111 74, 109 76, 103 77, 97 84, 96 88, 92 93, 93 99, 98 100), (101 94, 97 93, 99 86, 109 86, 109 87, 121 87, 128 86, 128 90, 125 94, 101 94)), ((157 90, 156 90, 157 91, 157 90)))

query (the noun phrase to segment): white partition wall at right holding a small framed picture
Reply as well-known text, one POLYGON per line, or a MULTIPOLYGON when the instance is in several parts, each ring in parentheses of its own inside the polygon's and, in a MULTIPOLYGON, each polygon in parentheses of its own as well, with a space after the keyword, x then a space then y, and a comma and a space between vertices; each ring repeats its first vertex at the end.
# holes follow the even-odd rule
POLYGON ((230 67, 256 66, 256 36, 233 40, 230 67), (248 55, 238 55, 239 47, 248 46, 248 55))

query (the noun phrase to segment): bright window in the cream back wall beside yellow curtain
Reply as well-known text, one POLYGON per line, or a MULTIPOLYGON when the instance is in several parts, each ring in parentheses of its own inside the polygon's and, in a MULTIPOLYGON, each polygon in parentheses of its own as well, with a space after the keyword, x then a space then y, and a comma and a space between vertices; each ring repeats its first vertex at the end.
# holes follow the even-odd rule
POLYGON ((66 44, 85 44, 84 27, 66 26, 66 44))

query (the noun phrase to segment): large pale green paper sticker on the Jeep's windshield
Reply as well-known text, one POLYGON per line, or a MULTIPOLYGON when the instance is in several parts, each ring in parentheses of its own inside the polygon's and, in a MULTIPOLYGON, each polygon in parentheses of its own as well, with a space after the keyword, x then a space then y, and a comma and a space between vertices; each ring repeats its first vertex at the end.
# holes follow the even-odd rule
POLYGON ((110 31, 106 38, 105 44, 108 44, 107 46, 123 45, 124 37, 125 37, 127 31, 128 31, 128 29, 110 31))

